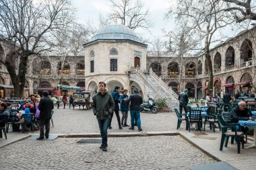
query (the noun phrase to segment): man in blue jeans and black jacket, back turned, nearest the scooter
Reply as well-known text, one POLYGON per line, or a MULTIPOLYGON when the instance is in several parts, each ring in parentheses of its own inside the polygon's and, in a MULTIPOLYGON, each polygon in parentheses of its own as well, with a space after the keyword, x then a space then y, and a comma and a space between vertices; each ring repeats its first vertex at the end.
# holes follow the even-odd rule
POLYGON ((133 94, 130 95, 127 103, 130 103, 130 114, 131 114, 131 127, 129 129, 134 130, 134 118, 137 119, 138 130, 141 131, 140 112, 139 108, 142 104, 142 97, 138 94, 137 89, 133 89, 133 94))

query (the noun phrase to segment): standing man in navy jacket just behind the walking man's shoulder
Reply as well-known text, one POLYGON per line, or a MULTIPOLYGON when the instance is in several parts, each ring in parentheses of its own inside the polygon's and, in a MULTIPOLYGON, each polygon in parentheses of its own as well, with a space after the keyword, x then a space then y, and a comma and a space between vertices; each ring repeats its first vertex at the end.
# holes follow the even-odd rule
MULTIPOLYGON (((119 125, 119 129, 122 129, 121 121, 120 121, 120 116, 119 116, 119 103, 120 103, 120 101, 119 101, 119 97, 120 97, 119 91, 120 91, 120 87, 116 86, 115 90, 113 90, 111 92, 111 95, 112 95, 112 97, 113 97, 113 99, 115 101, 115 114, 117 116, 117 122, 118 122, 118 125, 119 125)), ((111 114, 109 129, 112 129, 111 122, 112 122, 113 114, 114 113, 111 114)))

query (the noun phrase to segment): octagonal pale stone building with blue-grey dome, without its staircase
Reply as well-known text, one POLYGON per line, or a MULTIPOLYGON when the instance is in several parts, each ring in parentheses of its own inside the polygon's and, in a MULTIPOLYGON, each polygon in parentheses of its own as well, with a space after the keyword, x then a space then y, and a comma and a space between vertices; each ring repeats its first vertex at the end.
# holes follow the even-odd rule
POLYGON ((129 81, 129 68, 146 70, 147 45, 139 41, 130 28, 123 25, 104 26, 84 44, 86 89, 95 91, 104 81, 108 91, 115 86, 139 88, 129 81))

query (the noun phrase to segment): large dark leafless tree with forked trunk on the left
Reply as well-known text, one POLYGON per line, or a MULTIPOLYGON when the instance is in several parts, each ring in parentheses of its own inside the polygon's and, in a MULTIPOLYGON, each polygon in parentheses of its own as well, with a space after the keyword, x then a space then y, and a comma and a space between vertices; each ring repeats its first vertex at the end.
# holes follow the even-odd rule
POLYGON ((0 62, 11 77, 15 97, 22 97, 28 57, 51 49, 51 34, 71 22, 71 4, 69 0, 1 0, 0 7, 0 34, 12 44, 0 62))

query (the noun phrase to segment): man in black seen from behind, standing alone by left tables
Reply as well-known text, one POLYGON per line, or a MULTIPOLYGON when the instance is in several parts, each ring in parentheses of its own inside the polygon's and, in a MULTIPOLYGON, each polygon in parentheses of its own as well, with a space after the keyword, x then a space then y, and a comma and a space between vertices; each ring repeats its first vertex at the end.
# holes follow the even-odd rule
POLYGON ((38 105, 38 110, 40 110, 39 115, 39 125, 40 125, 40 136, 36 138, 37 140, 44 139, 44 126, 45 126, 45 138, 49 138, 50 132, 50 119, 51 112, 54 108, 53 101, 49 97, 48 91, 42 91, 42 99, 38 105))

